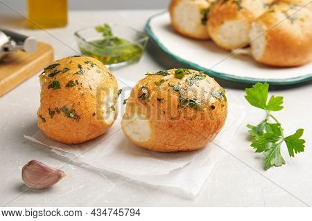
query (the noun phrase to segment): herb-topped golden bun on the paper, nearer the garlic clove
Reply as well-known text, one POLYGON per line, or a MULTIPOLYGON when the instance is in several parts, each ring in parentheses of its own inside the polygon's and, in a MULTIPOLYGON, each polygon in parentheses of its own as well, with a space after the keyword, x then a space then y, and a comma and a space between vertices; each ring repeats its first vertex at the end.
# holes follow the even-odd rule
POLYGON ((117 116, 118 85, 92 57, 54 61, 40 75, 38 126, 53 140, 79 144, 105 133, 117 116))

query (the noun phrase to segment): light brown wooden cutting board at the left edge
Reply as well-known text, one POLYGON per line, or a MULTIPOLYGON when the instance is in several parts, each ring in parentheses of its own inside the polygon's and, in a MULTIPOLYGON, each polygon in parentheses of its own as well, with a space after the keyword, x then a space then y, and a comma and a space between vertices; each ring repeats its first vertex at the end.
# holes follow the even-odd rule
POLYGON ((53 48, 37 43, 37 50, 28 54, 21 50, 0 61, 0 97, 26 81, 53 61, 53 48))

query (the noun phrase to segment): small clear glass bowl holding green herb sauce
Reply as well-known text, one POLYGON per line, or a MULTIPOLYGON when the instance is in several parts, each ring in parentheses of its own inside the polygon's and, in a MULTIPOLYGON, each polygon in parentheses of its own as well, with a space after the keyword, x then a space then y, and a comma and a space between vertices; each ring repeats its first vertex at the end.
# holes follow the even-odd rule
POLYGON ((103 41, 112 37, 103 37, 96 26, 83 28, 74 33, 80 52, 98 59, 107 67, 114 68, 134 64, 141 58, 148 42, 148 36, 135 28, 122 24, 108 24, 112 34, 119 37, 123 44, 105 46, 103 41), (102 43, 102 44, 101 44, 102 43))

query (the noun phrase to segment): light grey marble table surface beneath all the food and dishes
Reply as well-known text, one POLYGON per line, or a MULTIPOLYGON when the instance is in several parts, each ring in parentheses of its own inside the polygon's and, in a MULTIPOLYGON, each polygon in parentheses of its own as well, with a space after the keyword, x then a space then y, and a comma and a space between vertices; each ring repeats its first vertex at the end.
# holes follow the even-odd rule
MULTIPOLYGON (((55 59, 76 55, 73 32, 104 22, 122 22, 143 30, 148 17, 159 10, 74 11, 69 12, 66 28, 26 30, 11 27, 39 41, 51 44, 55 59), (55 38, 55 37, 56 38, 55 38)), ((148 70, 180 67, 166 57, 153 42, 138 64, 114 70, 116 77, 137 81, 148 70)), ((37 131, 36 111, 40 84, 37 75, 0 98, 0 205, 6 206, 309 206, 312 205, 312 84, 272 86, 275 95, 285 97, 284 110, 277 113, 287 134, 304 128, 306 151, 294 159, 283 151, 286 165, 263 169, 263 156, 254 153, 248 140, 246 124, 256 124, 263 113, 250 108, 244 99, 246 84, 217 79, 227 89, 231 102, 248 108, 248 115, 236 131, 232 143, 223 153, 204 187, 195 199, 164 188, 131 182, 110 173, 94 173, 75 164, 64 171, 69 177, 44 191, 31 190, 21 182, 21 167, 37 159, 52 166, 66 160, 26 141, 23 135, 37 131)), ((284 149, 286 149, 284 147, 284 149)))

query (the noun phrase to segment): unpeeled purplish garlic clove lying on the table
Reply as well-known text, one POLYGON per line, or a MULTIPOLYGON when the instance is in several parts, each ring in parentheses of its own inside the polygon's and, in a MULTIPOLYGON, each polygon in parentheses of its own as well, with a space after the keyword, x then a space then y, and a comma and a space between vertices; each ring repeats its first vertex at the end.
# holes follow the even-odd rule
POLYGON ((21 171, 21 179, 33 189, 46 189, 59 182, 65 173, 37 160, 31 160, 21 171))

